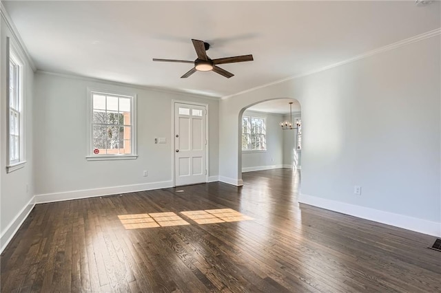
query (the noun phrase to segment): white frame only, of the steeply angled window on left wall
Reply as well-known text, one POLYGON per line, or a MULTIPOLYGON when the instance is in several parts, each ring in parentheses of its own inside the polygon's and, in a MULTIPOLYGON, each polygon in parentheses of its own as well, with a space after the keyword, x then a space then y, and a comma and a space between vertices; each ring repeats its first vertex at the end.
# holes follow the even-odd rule
POLYGON ((6 60, 8 61, 8 67, 6 69, 6 172, 11 173, 25 166, 25 63, 24 58, 20 54, 17 45, 11 42, 11 39, 6 39, 6 60), (17 72, 14 72, 14 92, 16 93, 14 100, 17 100, 17 109, 12 108, 10 105, 10 65, 14 63, 14 68, 17 72), (11 144, 11 110, 15 111, 18 116, 18 159, 11 160, 10 144, 11 144))

